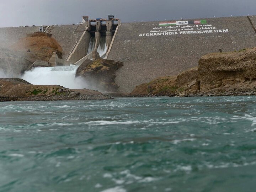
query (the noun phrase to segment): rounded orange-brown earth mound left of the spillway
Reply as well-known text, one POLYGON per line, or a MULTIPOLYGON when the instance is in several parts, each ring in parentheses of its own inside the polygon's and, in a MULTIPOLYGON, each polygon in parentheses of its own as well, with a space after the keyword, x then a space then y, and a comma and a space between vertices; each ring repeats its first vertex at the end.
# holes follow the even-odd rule
POLYGON ((62 48, 59 43, 47 33, 33 33, 30 37, 21 38, 10 49, 23 52, 33 62, 37 59, 47 61, 56 52, 62 58, 62 48), (28 51, 29 50, 29 51, 28 51))

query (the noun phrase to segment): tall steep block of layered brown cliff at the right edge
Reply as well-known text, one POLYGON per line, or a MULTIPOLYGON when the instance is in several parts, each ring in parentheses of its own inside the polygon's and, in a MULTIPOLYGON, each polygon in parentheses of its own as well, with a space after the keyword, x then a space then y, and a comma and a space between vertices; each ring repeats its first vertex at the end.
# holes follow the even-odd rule
POLYGON ((199 59, 200 90, 228 87, 237 84, 241 89, 256 79, 256 48, 224 54, 208 54, 199 59))

